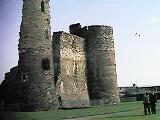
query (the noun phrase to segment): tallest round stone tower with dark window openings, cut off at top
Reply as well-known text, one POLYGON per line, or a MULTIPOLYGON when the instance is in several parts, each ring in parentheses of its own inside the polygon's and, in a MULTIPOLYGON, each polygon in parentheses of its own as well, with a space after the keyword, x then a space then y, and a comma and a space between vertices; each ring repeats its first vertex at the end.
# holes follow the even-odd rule
POLYGON ((23 0, 19 40, 23 111, 56 106, 49 0, 23 0))

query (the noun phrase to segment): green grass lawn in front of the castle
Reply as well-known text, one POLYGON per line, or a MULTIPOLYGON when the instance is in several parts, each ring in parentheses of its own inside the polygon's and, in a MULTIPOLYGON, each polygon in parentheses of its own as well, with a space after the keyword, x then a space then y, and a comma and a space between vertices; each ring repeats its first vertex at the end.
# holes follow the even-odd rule
POLYGON ((157 114, 145 116, 142 102, 83 109, 0 113, 0 120, 61 120, 69 118, 77 118, 75 120, 160 120, 160 102, 157 104, 157 114))

